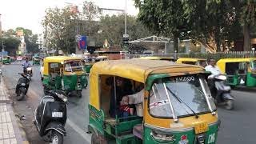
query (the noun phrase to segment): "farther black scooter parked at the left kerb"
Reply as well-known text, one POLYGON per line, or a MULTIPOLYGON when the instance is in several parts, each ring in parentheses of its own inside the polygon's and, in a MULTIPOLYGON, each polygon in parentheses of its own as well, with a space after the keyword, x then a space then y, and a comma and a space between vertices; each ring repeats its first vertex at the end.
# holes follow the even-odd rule
POLYGON ((22 78, 18 79, 15 93, 17 94, 17 100, 20 101, 25 97, 27 90, 29 89, 30 75, 22 74, 22 73, 18 73, 18 74, 22 75, 22 78))

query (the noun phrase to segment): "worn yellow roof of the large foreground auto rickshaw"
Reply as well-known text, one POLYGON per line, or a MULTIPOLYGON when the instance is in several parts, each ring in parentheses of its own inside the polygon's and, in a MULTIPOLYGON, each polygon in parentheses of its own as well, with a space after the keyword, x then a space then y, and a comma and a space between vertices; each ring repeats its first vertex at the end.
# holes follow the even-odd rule
POLYGON ((122 59, 96 62, 90 74, 115 75, 122 78, 146 82, 149 74, 181 74, 199 73, 205 71, 202 66, 176 64, 174 62, 146 59, 122 59))

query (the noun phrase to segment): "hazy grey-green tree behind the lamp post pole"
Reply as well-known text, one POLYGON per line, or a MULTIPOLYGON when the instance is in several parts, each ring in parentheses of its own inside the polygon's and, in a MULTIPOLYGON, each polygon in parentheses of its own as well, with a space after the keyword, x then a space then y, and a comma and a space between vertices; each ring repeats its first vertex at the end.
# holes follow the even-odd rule
MULTIPOLYGON (((124 14, 102 16, 100 21, 100 30, 102 30, 102 33, 98 34, 98 40, 101 42, 101 46, 105 39, 112 46, 122 45, 122 34, 124 34, 125 30, 124 19, 124 14)), ((138 22, 136 17, 128 15, 127 34, 129 34, 130 40, 135 40, 150 36, 150 31, 142 25, 142 22, 138 22)))

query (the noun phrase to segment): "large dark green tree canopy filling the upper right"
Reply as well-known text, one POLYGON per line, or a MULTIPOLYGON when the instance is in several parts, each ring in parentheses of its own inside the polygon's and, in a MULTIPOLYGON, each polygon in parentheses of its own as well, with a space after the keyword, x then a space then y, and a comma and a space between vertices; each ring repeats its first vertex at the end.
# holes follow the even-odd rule
MULTIPOLYGON (((210 52, 224 50, 223 45, 240 38, 250 41, 250 24, 255 23, 254 0, 134 0, 139 8, 138 19, 150 30, 166 36, 191 38, 210 52), (249 34, 249 37, 246 35, 249 34)), ((246 46, 250 47, 250 46, 246 46)), ((245 48, 246 48, 245 47, 245 48)), ((246 49, 247 50, 247 49, 246 49)))

